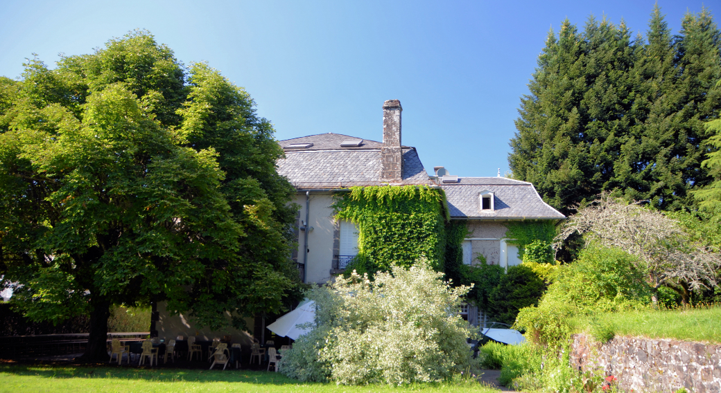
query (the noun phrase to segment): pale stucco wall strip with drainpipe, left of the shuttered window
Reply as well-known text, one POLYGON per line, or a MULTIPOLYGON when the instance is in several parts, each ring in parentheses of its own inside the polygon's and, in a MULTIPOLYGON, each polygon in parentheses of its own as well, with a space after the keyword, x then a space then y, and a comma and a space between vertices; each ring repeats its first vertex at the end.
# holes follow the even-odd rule
MULTIPOLYGON (((301 205, 301 220, 306 220, 306 195, 296 195, 295 202, 301 205)), ((308 261, 306 263, 306 282, 324 284, 331 279, 330 269, 333 261, 333 217, 332 194, 310 195, 309 223, 313 230, 308 232, 308 261)), ((304 233, 298 235, 298 263, 303 263, 304 233)))

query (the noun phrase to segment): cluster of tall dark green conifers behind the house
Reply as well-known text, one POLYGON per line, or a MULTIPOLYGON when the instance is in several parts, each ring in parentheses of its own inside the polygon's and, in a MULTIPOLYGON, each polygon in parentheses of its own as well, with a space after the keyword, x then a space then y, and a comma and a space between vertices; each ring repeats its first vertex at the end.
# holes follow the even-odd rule
POLYGON ((564 214, 601 191, 661 209, 694 204, 711 178, 704 122, 721 109, 720 34, 711 14, 686 14, 671 36, 658 6, 647 42, 622 22, 569 21, 549 33, 521 99, 508 161, 564 214))

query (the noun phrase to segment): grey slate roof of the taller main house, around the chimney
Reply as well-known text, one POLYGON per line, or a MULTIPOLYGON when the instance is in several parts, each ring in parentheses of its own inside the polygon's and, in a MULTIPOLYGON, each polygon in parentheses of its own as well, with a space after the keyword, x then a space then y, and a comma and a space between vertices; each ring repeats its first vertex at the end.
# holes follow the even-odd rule
MULTIPOLYGON (((358 148, 341 148, 345 140, 361 139, 341 134, 320 134, 281 140, 313 143, 310 148, 285 149, 286 158, 278 160, 278 173, 286 176, 296 189, 332 189, 381 184, 382 143, 364 140, 358 148)), ((432 184, 415 148, 403 148, 402 184, 432 184)))

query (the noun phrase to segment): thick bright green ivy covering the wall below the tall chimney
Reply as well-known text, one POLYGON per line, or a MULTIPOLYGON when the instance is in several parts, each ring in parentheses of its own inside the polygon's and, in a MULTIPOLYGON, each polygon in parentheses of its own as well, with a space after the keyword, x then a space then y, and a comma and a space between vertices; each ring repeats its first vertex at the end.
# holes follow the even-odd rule
POLYGON ((443 271, 445 223, 450 219, 446 194, 428 186, 353 187, 337 195, 337 220, 358 226, 358 257, 349 266, 359 273, 410 267, 426 258, 443 271))

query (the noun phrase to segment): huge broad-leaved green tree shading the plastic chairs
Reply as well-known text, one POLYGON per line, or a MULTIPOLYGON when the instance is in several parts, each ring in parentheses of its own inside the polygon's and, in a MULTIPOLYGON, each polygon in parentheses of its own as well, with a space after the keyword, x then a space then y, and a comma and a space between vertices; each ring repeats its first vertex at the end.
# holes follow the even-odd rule
POLYGON ((112 304, 167 300, 244 328, 297 294, 291 184, 254 102, 148 32, 0 78, 0 274, 35 320, 90 315, 107 358, 112 304), (227 315, 233 315, 228 318, 227 315))

